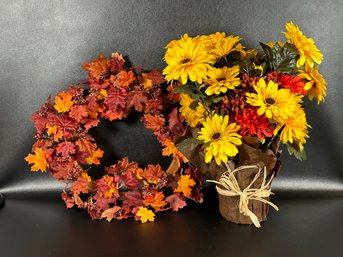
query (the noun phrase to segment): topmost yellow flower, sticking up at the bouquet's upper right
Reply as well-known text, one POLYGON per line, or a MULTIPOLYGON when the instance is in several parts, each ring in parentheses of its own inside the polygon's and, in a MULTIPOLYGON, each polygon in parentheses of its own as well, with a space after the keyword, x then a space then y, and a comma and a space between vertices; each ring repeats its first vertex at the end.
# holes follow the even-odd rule
POLYGON ((307 38, 298 25, 294 25, 293 22, 286 23, 286 30, 284 32, 288 42, 293 44, 300 54, 300 58, 297 61, 297 67, 301 67, 305 63, 313 68, 314 62, 320 64, 323 59, 323 54, 316 47, 312 38, 307 38))

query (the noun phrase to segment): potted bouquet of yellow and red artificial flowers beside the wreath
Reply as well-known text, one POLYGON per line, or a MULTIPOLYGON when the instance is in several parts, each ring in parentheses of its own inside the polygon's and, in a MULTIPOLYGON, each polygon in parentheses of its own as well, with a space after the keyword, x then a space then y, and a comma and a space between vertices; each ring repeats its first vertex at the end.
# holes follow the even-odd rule
POLYGON ((310 125, 303 99, 320 103, 326 96, 318 71, 322 53, 297 25, 285 27, 287 42, 261 43, 263 52, 219 32, 185 34, 166 46, 163 74, 180 94, 179 112, 187 123, 174 143, 215 179, 220 211, 233 222, 260 226, 266 207, 277 209, 268 198, 281 167, 280 141, 304 159, 310 125))

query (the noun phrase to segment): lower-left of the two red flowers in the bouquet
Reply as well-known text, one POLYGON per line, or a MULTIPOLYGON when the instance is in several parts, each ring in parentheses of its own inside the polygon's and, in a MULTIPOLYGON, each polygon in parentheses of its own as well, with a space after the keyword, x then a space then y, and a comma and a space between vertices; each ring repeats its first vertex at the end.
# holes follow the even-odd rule
POLYGON ((264 139, 273 135, 273 125, 265 116, 259 116, 256 109, 247 108, 243 114, 236 115, 236 122, 241 125, 242 136, 255 136, 264 139))

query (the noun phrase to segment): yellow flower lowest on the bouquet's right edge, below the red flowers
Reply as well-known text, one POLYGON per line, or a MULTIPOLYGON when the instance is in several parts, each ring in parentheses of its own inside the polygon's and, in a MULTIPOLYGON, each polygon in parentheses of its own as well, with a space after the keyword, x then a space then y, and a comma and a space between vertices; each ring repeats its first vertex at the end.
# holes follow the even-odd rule
POLYGON ((304 150, 306 138, 309 138, 308 127, 305 111, 298 107, 293 115, 285 120, 284 124, 278 124, 275 129, 275 134, 282 128, 280 134, 281 142, 284 144, 295 143, 298 145, 299 150, 302 151, 304 150))

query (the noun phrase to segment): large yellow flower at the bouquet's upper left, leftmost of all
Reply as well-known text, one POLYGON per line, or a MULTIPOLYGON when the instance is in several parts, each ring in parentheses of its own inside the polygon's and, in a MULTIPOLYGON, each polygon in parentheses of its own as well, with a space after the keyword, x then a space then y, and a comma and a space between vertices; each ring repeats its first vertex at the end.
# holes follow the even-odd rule
POLYGON ((190 79, 202 83, 206 77, 209 64, 213 64, 212 56, 202 44, 196 44, 191 38, 182 38, 178 44, 168 48, 164 56, 167 67, 163 70, 168 81, 181 80, 184 85, 190 79))

